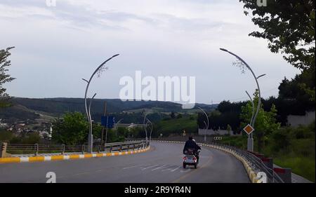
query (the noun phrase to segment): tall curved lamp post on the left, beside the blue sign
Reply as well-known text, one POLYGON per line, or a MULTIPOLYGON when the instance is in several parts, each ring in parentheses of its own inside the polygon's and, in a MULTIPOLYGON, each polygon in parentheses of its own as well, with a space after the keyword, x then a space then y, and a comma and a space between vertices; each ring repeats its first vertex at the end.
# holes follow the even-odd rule
MULTIPOLYGON (((92 120, 91 120, 91 114, 90 114, 90 109, 88 109, 87 105, 87 100, 86 100, 86 96, 87 96, 87 93, 88 93, 88 88, 89 88, 89 85, 93 79, 93 76, 97 73, 97 72, 102 72, 103 69, 104 69, 104 65, 106 62, 110 61, 113 57, 117 57, 117 55, 119 54, 116 54, 116 55, 113 55, 112 57, 110 57, 109 59, 105 60, 102 64, 100 64, 100 66, 98 66, 98 68, 93 72, 93 74, 91 75, 90 79, 87 81, 84 79, 84 81, 87 82, 87 85, 86 85, 86 92, 84 93, 84 107, 86 108, 86 116, 88 117, 88 122, 90 124, 90 127, 89 127, 89 134, 88 134, 88 152, 91 153, 92 152, 92 148, 93 148, 93 135, 92 135, 92 120)), ((91 104, 91 103, 90 103, 91 104)))

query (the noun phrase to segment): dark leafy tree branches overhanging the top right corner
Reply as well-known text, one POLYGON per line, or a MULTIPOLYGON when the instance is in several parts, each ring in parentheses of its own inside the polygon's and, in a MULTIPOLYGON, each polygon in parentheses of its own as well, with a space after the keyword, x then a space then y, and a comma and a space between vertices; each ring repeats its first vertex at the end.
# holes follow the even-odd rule
MULTIPOLYGON (((239 1, 244 2, 244 13, 249 15, 251 11, 251 20, 263 29, 249 36, 268 39, 272 53, 281 52, 284 60, 315 77, 315 1, 268 0, 267 6, 258 6, 257 1, 239 1)), ((315 101, 313 82, 312 86, 304 82, 300 86, 315 101)))

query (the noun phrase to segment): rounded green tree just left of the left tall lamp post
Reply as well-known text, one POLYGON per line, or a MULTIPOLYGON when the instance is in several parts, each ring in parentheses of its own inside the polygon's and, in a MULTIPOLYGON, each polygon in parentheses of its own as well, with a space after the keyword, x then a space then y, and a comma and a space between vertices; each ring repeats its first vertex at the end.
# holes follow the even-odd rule
POLYGON ((88 135, 88 121, 84 114, 68 112, 53 122, 52 140, 62 144, 83 144, 88 135))

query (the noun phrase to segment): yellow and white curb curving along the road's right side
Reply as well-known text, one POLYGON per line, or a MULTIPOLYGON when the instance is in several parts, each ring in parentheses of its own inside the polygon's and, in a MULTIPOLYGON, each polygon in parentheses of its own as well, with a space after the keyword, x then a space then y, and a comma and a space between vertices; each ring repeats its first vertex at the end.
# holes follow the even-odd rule
MULTIPOLYGON (((177 141, 162 141, 162 140, 152 140, 153 142, 168 142, 168 143, 184 143, 184 142, 177 142, 177 141)), ((249 162, 246 161, 242 156, 239 156, 234 150, 231 149, 224 149, 223 147, 219 147, 213 144, 203 144, 202 146, 204 147, 211 147, 213 149, 218 149, 220 151, 225 151, 228 154, 231 154, 232 156, 235 156, 235 158, 237 158, 239 161, 242 162, 242 164, 244 165, 244 168, 246 169, 246 172, 248 174, 248 177, 251 181, 251 183, 257 183, 258 179, 257 179, 257 175, 256 172, 254 172, 254 170, 252 170, 251 166, 249 165, 249 162)))

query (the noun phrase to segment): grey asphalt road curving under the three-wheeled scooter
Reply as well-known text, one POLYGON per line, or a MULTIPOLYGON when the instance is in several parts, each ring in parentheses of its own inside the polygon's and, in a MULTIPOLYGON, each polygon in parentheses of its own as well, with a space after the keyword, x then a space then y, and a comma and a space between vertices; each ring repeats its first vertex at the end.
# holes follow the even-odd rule
POLYGON ((0 164, 0 182, 249 182, 240 161, 216 149, 203 148, 197 169, 182 167, 183 144, 152 142, 150 151, 134 155, 70 161, 0 164))

